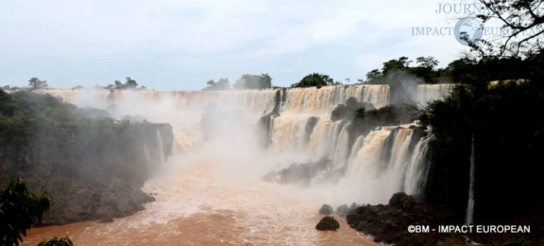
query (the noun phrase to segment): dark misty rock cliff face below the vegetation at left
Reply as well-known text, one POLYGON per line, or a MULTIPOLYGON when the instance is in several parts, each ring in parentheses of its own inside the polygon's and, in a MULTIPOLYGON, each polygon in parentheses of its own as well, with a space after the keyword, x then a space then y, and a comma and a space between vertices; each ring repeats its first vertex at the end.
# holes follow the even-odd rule
POLYGON ((0 183, 21 177, 33 192, 50 192, 50 211, 41 225, 106 222, 130 216, 154 201, 140 188, 170 155, 171 126, 104 123, 86 127, 70 136, 71 143, 77 144, 55 146, 47 158, 33 160, 31 168, 0 173, 0 183))

